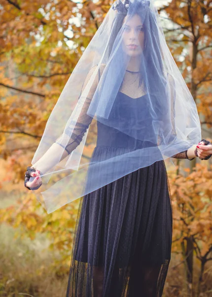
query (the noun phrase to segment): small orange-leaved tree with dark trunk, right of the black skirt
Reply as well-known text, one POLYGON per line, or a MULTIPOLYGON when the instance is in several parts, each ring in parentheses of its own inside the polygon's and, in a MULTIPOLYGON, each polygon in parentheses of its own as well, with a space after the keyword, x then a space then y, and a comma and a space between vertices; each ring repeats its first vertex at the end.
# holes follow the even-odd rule
POLYGON ((187 176, 170 172, 174 230, 172 252, 181 250, 181 265, 185 271, 184 294, 199 297, 203 293, 206 265, 212 260, 212 166, 208 169, 204 164, 197 164, 192 172, 184 170, 189 173, 187 176), (199 263, 196 267, 193 259, 199 263))

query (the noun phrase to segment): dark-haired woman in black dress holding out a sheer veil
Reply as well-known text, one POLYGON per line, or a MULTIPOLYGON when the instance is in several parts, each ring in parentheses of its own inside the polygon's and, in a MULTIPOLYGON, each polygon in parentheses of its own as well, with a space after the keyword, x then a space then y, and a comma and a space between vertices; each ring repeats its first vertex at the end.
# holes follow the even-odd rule
MULTIPOLYGON (((67 168, 75 165, 78 171, 71 174, 72 187, 71 179, 66 183, 69 196, 78 191, 73 195, 78 198, 77 172, 87 168, 67 297, 161 297, 172 245, 164 158, 208 159, 212 145, 205 140, 194 145, 201 136, 196 106, 164 44, 149 1, 115 1, 98 31, 91 46, 99 46, 96 52, 102 55, 98 63, 94 55, 86 73, 79 108, 72 112, 65 133, 36 163, 34 159, 25 185, 39 188, 39 170, 45 177, 49 168, 69 157, 67 168), (103 32, 108 37, 102 45, 103 32), (80 150, 75 157, 73 152, 85 144, 92 120, 98 128, 96 146, 89 163, 77 167, 74 161, 79 160, 80 150)), ((71 90, 70 85, 65 89, 71 90)), ((48 211, 56 209, 55 201, 59 208, 73 200, 60 202, 58 190, 64 195, 64 189, 58 185, 54 192, 54 186, 44 192, 48 211)))

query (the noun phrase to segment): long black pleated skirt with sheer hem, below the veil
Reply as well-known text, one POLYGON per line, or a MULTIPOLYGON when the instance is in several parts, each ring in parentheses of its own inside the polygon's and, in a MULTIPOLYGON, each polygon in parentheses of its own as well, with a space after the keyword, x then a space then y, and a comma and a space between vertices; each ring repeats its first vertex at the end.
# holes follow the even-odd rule
POLYGON ((171 246, 161 160, 81 198, 66 297, 161 297, 171 246))

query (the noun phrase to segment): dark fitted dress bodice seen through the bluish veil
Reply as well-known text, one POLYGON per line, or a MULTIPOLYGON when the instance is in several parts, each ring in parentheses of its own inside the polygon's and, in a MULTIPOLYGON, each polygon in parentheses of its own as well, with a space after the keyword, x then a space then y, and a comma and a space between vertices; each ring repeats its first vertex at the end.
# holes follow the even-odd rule
POLYGON ((149 131, 152 125, 146 97, 143 95, 133 99, 118 92, 108 120, 105 124, 103 120, 97 121, 97 146, 132 149, 157 146, 156 141, 141 141, 141 127, 142 131, 145 127, 148 127, 149 131))

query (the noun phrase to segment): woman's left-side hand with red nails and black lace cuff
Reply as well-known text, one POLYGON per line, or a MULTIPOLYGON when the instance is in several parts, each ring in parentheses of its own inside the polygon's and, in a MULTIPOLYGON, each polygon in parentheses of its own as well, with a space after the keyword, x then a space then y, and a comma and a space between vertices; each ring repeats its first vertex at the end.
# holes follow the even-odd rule
POLYGON ((25 183, 24 186, 29 190, 37 190, 42 185, 42 180, 40 177, 40 171, 32 167, 27 167, 25 173, 25 183))

